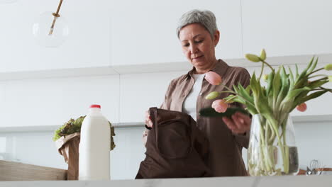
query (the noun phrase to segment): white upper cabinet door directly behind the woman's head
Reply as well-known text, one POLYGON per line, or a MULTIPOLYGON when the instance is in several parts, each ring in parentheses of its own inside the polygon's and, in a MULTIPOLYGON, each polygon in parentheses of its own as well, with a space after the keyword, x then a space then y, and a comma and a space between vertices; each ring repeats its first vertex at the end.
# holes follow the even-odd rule
POLYGON ((240 1, 112 1, 111 64, 186 62, 176 35, 177 21, 194 8, 216 15, 221 32, 216 56, 243 57, 240 1))

